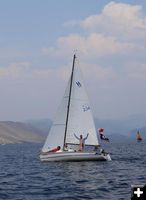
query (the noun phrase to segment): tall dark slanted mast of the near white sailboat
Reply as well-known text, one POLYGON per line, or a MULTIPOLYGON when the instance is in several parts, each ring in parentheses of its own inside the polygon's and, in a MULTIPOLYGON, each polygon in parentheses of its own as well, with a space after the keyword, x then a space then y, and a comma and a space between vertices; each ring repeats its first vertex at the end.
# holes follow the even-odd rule
POLYGON ((65 148, 65 141, 66 141, 66 134, 67 134, 67 126, 68 126, 68 117, 69 117, 69 109, 70 109, 70 99, 71 99, 71 92, 72 92, 72 81, 73 81, 75 59, 76 59, 76 55, 74 54, 74 56, 73 56, 73 65, 72 65, 72 72, 71 72, 71 80, 70 80, 69 98, 68 98, 68 105, 67 105, 67 115, 66 115, 66 123, 65 123, 65 133, 64 133, 63 149, 65 148))

